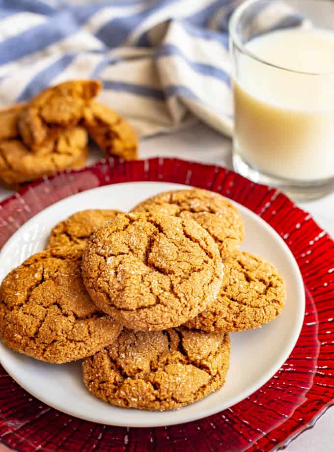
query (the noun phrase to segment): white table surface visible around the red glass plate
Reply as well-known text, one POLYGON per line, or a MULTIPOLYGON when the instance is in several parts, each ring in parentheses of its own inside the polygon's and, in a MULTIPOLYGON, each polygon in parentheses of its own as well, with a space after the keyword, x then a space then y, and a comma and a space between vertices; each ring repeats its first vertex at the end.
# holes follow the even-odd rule
MULTIPOLYGON (((88 163, 98 158, 95 154, 88 163)), ((197 124, 172 135, 153 137, 141 142, 140 157, 179 157, 202 163, 222 165, 231 168, 231 141, 197 124)), ((12 192, 0 188, 0 200, 12 192)), ((334 237, 334 193, 326 198, 298 204, 308 211, 315 221, 334 237)), ((0 446, 0 452, 8 451, 0 446)), ((334 408, 328 410, 314 428, 304 432, 286 449, 288 452, 331 452, 334 451, 334 408)))

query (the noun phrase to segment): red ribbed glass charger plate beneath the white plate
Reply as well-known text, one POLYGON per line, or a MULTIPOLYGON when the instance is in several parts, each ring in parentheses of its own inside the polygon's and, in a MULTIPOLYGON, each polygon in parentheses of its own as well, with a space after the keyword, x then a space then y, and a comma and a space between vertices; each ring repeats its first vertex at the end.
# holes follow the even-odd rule
POLYGON ((157 428, 112 427, 60 413, 31 397, 0 367, 0 442, 22 452, 241 452, 285 447, 334 403, 333 240, 275 189, 221 167, 156 158, 110 159, 23 188, 0 204, 0 246, 54 202, 130 181, 174 182, 216 191, 269 223, 294 254, 305 283, 306 313, 296 346, 276 375, 242 402, 199 421, 157 428))

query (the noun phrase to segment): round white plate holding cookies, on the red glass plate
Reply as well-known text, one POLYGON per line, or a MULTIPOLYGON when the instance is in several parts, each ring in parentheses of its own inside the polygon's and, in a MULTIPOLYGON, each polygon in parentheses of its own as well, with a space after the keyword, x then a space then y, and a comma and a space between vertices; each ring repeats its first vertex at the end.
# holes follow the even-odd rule
MULTIPOLYGON (((28 256, 43 250, 48 234, 60 220, 88 208, 130 210, 139 201, 162 191, 184 188, 164 182, 114 184, 71 196, 31 218, 8 240, 0 253, 0 281, 28 256)), ((189 187, 188 187, 189 188, 189 187)), ((217 413, 243 400, 266 383, 292 351, 304 318, 305 293, 297 263, 274 229, 238 204, 245 223, 242 249, 275 264, 287 285, 282 314, 262 328, 231 335, 231 360, 226 383, 205 399, 169 412, 116 408, 84 387, 81 363, 52 365, 9 350, 0 342, 0 362, 28 393, 67 414, 88 421, 133 427, 181 424, 217 413)))

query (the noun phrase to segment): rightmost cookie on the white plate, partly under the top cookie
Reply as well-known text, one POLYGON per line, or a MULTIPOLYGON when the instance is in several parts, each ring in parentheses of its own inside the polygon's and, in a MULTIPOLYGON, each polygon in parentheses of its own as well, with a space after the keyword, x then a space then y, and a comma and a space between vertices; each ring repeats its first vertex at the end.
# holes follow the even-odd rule
POLYGON ((286 290, 278 270, 245 252, 224 262, 220 295, 210 309, 185 324, 203 331, 236 332, 257 328, 282 311, 286 290))

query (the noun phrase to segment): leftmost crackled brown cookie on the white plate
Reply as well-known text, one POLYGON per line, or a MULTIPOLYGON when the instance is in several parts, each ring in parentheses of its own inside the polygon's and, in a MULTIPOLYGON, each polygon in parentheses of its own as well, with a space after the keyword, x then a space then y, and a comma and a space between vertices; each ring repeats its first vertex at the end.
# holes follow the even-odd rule
POLYGON ((29 257, 0 287, 0 338, 11 349, 67 363, 109 345, 121 326, 97 310, 81 277, 82 250, 53 248, 29 257))

